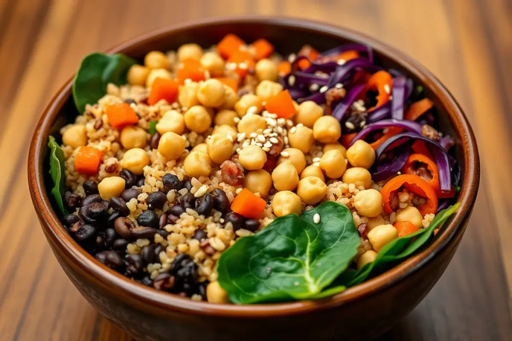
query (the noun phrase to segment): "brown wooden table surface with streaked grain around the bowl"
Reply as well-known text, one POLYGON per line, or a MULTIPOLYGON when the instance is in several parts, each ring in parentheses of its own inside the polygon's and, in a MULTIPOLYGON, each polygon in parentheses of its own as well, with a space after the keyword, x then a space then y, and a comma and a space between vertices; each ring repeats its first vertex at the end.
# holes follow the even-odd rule
POLYGON ((451 90, 477 135, 477 203, 437 285, 379 340, 510 340, 510 0, 0 0, 0 340, 131 339, 81 297, 51 253, 28 192, 30 137, 86 54, 227 14, 307 17, 356 29, 416 58, 451 90))

